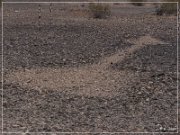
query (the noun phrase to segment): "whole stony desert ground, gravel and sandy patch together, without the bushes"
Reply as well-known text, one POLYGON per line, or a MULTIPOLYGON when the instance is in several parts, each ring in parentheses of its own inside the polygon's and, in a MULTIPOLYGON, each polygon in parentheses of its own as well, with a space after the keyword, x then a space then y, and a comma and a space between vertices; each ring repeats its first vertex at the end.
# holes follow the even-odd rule
POLYGON ((177 132, 177 16, 154 5, 110 4, 106 19, 88 4, 3 7, 4 132, 177 132))

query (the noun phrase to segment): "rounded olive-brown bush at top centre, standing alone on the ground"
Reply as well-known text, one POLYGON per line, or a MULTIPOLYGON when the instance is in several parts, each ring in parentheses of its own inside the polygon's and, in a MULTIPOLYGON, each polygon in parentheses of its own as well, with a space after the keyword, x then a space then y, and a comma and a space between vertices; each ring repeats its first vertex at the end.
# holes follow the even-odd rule
POLYGON ((89 11, 93 18, 103 19, 107 18, 111 14, 110 6, 102 3, 90 3, 89 11))

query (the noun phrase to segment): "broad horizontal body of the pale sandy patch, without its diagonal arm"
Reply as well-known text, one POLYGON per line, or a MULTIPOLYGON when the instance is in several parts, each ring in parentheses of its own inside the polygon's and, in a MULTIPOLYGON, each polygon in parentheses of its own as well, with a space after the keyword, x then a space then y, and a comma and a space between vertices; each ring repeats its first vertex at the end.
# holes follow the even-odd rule
POLYGON ((13 72, 7 76, 8 83, 18 82, 22 87, 41 90, 66 91, 85 96, 114 96, 118 88, 127 88, 132 73, 90 68, 50 69, 43 68, 13 72))

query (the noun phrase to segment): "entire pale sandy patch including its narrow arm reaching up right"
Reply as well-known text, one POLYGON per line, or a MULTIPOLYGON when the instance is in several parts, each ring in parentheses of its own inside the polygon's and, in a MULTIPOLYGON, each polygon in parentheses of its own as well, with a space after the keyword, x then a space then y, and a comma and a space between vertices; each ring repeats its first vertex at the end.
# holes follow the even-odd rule
POLYGON ((144 45, 157 45, 162 42, 150 36, 131 40, 134 45, 116 54, 103 58, 99 64, 79 68, 39 68, 13 71, 5 76, 7 83, 19 83, 22 87, 42 90, 68 91, 84 96, 111 97, 127 89, 132 81, 137 80, 136 73, 114 71, 107 67, 141 49, 144 45))

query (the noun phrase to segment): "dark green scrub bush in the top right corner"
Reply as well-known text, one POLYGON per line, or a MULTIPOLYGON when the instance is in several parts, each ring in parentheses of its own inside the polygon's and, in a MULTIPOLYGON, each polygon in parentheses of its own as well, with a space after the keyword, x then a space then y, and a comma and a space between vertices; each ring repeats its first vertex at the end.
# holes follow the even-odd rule
MULTIPOLYGON (((180 0, 166 0, 167 2, 180 2, 180 0)), ((177 14, 177 4, 176 3, 163 3, 156 11, 157 15, 163 14, 177 14)))

